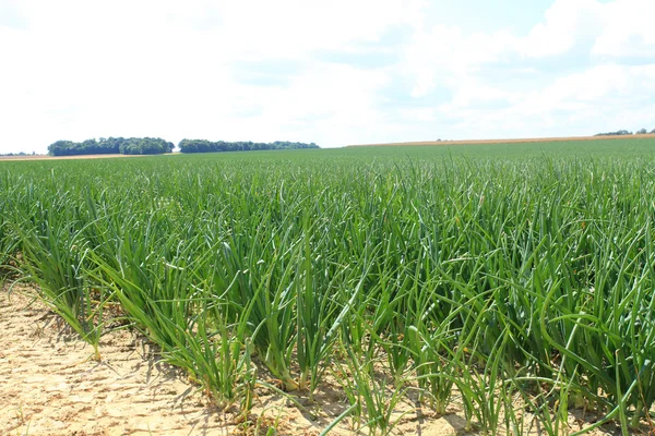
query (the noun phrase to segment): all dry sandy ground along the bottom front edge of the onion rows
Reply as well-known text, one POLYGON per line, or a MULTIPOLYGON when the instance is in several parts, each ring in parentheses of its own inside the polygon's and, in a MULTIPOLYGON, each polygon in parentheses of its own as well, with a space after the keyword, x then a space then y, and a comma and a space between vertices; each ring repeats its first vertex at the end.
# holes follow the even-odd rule
MULTIPOLYGON (((93 361, 93 349, 68 334, 33 294, 21 290, 10 298, 7 286, 0 289, 0 435, 264 435, 274 426, 279 435, 315 436, 347 407, 338 389, 326 389, 310 416, 258 388, 251 425, 243 428, 236 414, 210 404, 127 330, 106 335, 103 361, 93 361)), ((398 435, 456 435, 465 424, 456 409, 436 416, 409 401, 394 415, 398 435)), ((344 422, 331 434, 353 433, 344 422)))

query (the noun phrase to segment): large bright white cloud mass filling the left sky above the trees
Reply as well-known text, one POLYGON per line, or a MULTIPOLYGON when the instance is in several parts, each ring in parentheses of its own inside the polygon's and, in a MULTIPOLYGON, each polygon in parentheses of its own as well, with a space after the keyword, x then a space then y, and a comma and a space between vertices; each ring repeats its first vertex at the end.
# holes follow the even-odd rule
POLYGON ((416 8, 402 0, 21 2, 26 28, 0 25, 10 65, 0 70, 10 140, 0 150, 108 135, 342 145, 337 129, 378 121, 376 93, 388 76, 311 55, 377 41, 416 8), (301 65, 286 86, 240 82, 238 62, 285 59, 301 65), (314 119, 318 126, 307 125, 314 119))

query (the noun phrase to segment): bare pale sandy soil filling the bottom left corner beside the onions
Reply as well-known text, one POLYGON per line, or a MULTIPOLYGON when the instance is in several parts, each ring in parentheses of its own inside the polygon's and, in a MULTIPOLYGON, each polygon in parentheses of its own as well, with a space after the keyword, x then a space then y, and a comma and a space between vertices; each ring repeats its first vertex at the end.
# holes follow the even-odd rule
POLYGON ((217 412, 129 332, 93 349, 31 299, 0 291, 0 435, 219 435, 217 412))

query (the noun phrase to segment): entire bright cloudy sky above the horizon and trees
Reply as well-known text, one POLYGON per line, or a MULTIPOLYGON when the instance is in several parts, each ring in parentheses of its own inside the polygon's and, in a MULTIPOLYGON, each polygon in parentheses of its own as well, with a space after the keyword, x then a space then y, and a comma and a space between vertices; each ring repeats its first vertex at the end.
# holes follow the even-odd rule
POLYGON ((0 0, 0 153, 655 129, 655 0, 0 0))

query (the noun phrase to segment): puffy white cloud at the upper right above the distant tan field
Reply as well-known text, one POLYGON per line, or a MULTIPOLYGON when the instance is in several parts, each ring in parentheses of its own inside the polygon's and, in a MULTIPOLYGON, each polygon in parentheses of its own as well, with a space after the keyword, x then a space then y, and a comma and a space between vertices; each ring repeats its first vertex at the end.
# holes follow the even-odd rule
POLYGON ((457 137, 590 134, 618 113, 653 124, 632 107, 655 92, 654 13, 652 0, 557 0, 526 35, 424 25, 405 51, 412 96, 449 89, 433 121, 450 120, 457 137), (621 61, 639 56, 641 66, 621 61))

